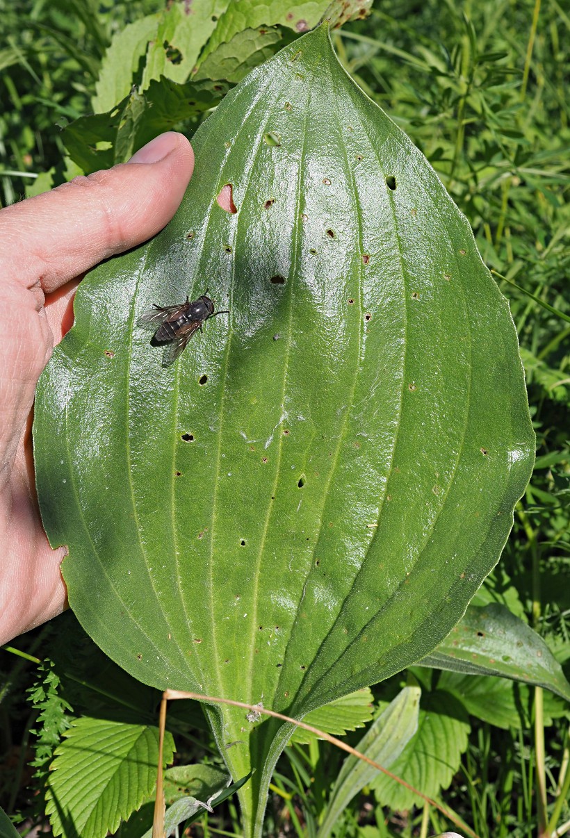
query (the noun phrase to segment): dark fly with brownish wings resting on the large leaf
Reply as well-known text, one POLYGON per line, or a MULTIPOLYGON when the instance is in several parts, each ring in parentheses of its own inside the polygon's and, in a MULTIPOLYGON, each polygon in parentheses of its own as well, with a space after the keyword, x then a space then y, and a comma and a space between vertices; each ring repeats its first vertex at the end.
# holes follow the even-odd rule
POLYGON ((216 314, 228 314, 228 311, 215 312, 214 303, 207 296, 207 291, 192 303, 186 297, 185 303, 177 306, 157 306, 152 311, 142 315, 139 326, 156 328, 151 340, 152 346, 163 346, 163 366, 174 364, 189 339, 198 329, 202 331, 202 323, 216 314))

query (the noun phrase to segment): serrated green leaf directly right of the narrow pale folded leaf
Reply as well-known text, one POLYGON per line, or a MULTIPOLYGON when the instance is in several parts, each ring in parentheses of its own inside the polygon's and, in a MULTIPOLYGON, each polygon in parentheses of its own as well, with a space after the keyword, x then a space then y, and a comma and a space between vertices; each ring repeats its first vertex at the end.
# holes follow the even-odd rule
MULTIPOLYGON (((390 770, 428 797, 438 797, 459 768, 468 737, 467 711, 455 696, 441 690, 423 693, 417 732, 391 763, 390 770)), ((424 803, 417 794, 386 774, 377 774, 371 788, 379 804, 397 811, 424 803)))

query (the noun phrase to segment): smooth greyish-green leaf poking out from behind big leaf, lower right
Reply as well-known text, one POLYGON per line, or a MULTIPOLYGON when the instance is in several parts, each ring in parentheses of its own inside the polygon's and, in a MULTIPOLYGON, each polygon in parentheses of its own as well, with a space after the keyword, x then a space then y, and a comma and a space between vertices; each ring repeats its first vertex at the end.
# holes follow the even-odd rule
POLYGON ((547 644, 499 603, 470 605, 448 637, 420 663, 465 675, 520 680, 570 701, 570 684, 547 644))

